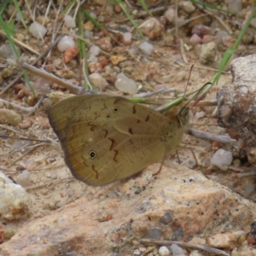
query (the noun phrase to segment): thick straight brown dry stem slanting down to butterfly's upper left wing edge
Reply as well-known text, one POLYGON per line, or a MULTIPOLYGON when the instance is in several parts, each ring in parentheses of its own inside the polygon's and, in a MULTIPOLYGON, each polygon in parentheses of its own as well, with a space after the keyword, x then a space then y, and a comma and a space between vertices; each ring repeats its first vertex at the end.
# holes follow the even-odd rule
POLYGON ((82 92, 82 90, 84 90, 82 87, 74 85, 74 84, 70 84, 68 82, 66 82, 63 79, 59 79, 58 77, 56 77, 55 75, 51 74, 51 73, 47 73, 44 70, 40 70, 36 67, 33 67, 27 63, 22 63, 21 64, 22 68, 25 68, 26 70, 37 74, 38 76, 44 78, 44 79, 48 79, 52 82, 55 82, 56 84, 60 84, 62 87, 64 87, 65 89, 69 90, 71 93, 74 94, 80 94, 82 92))

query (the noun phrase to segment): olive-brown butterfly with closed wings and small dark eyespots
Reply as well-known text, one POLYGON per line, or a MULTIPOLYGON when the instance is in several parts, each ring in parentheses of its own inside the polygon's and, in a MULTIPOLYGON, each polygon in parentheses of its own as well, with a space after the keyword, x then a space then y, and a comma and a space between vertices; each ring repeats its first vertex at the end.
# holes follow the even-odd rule
POLYGON ((179 116, 119 96, 70 97, 51 108, 49 122, 73 176, 95 186, 163 160, 176 150, 185 129, 179 116))

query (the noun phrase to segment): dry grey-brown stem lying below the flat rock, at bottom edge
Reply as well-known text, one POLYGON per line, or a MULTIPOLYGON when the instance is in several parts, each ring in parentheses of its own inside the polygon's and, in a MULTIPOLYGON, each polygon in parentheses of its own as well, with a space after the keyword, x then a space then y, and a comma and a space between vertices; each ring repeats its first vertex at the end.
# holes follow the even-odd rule
POLYGON ((146 244, 156 244, 156 245, 164 245, 164 246, 171 246, 172 244, 177 244, 180 247, 185 247, 189 249, 197 249, 201 251, 205 251, 207 253, 212 253, 215 255, 223 255, 223 256, 230 256, 230 253, 225 253, 222 250, 215 249, 213 247, 207 247, 201 244, 196 244, 196 243, 190 243, 190 242, 183 242, 183 241, 159 241, 159 240, 149 240, 149 239, 142 239, 142 243, 146 244))

